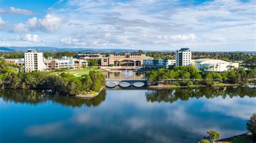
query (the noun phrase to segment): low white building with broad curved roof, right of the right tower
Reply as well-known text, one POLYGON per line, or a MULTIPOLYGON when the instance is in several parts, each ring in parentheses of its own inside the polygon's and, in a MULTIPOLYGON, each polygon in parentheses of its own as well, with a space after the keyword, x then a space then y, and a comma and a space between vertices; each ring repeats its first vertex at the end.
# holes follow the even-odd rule
POLYGON ((239 64, 237 62, 226 62, 223 60, 198 59, 192 60, 192 66, 203 71, 222 72, 227 70, 228 66, 234 66, 235 68, 238 68, 239 64))

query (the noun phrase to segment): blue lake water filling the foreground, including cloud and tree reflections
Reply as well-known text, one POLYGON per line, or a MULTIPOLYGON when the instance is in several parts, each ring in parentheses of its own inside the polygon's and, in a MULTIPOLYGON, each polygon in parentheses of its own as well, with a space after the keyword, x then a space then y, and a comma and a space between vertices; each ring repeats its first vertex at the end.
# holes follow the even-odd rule
POLYGON ((107 89, 93 99, 0 90, 0 142, 198 142, 247 132, 256 88, 107 89))

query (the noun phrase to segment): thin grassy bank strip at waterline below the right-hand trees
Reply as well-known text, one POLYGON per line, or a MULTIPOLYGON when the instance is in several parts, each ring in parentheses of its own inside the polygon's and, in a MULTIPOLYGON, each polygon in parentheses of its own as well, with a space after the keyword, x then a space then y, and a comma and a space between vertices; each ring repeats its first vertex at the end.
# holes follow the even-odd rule
MULTIPOLYGON (((231 84, 231 83, 214 83, 212 87, 233 87, 240 85, 256 85, 255 83, 246 83, 246 84, 231 84)), ((191 86, 176 86, 173 84, 164 84, 164 85, 148 85, 149 89, 168 89, 168 88, 197 88, 197 87, 207 87, 206 85, 191 85, 191 86)))

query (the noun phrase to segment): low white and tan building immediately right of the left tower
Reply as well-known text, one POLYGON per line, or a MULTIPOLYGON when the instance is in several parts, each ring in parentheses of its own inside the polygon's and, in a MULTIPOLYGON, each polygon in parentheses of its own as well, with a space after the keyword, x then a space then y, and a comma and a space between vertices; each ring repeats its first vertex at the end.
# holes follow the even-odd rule
POLYGON ((87 61, 83 59, 72 59, 63 56, 62 59, 52 59, 48 57, 44 59, 44 64, 47 67, 47 70, 55 70, 59 68, 73 68, 73 69, 81 69, 83 65, 87 67, 87 61))

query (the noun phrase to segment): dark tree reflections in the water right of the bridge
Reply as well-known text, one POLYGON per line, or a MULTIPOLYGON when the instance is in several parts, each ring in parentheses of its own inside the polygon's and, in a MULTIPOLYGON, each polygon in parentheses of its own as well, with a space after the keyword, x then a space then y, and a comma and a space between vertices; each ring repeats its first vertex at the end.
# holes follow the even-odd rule
POLYGON ((147 90, 145 93, 148 102, 176 102, 178 99, 187 101, 190 98, 206 97, 207 99, 221 96, 233 97, 256 97, 256 87, 204 87, 204 88, 176 88, 147 90))

